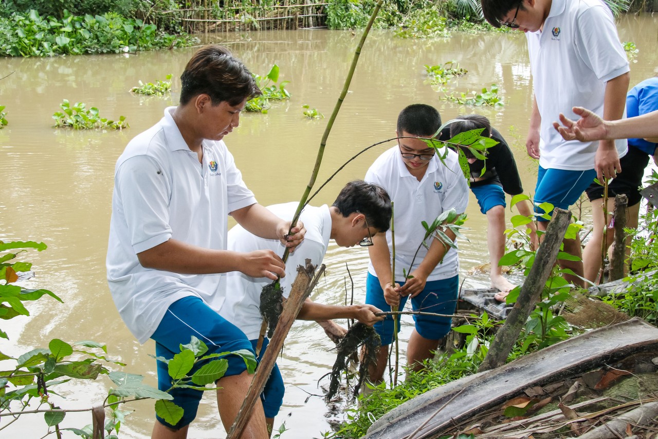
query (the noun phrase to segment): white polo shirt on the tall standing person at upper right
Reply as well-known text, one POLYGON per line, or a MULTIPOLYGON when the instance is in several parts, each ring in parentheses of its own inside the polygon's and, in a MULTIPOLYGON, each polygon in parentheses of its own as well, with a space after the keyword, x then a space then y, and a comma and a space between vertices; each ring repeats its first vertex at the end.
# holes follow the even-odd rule
MULTIPOLYGON (((542 116, 540 165, 545 169, 594 169, 599 142, 565 141, 552 123, 559 113, 577 120, 571 111, 576 106, 603 116, 606 82, 629 71, 609 8, 601 0, 553 0, 544 30, 526 32, 526 38, 542 116)), ((615 144, 619 157, 624 156, 626 140, 615 144)))

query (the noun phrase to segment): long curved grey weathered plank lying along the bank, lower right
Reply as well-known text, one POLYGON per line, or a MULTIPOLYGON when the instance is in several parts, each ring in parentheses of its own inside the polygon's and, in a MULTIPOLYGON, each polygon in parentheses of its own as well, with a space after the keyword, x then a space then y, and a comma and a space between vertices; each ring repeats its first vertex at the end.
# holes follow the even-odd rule
POLYGON ((651 349, 658 349, 658 328, 640 318, 592 330, 407 401, 372 424, 363 438, 434 438, 453 423, 495 407, 525 388, 651 349), (438 411, 440 407, 443 409, 438 411))

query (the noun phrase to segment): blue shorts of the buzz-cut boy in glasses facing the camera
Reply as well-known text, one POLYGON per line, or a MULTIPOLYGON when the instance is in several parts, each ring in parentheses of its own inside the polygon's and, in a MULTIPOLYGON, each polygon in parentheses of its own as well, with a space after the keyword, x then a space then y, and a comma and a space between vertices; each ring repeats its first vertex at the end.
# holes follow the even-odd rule
MULTIPOLYGON (((404 282, 398 282, 404 285, 404 282)), ((428 281, 425 289, 411 298, 411 307, 415 311, 436 312, 437 314, 454 314, 457 307, 457 292, 459 289, 459 276, 438 281, 428 281)), ((409 296, 400 298, 399 309, 402 310, 409 296)), ((382 311, 390 311, 391 307, 384 300, 384 291, 379 285, 379 279, 368 273, 366 280, 366 303, 380 308, 382 311)), ((400 330, 400 316, 397 315, 397 331, 400 330)), ((450 317, 438 316, 413 316, 416 323, 416 331, 421 337, 438 340, 450 332, 450 317)), ((374 329, 382 339, 382 346, 390 345, 393 341, 393 316, 374 324, 374 329)))

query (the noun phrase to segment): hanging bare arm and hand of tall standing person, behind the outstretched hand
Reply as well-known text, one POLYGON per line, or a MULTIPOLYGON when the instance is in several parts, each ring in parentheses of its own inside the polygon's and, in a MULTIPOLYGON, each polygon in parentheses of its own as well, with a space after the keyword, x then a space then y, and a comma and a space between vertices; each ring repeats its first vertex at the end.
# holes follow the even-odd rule
MULTIPOLYGON (((603 98, 603 119, 606 121, 617 121, 624 115, 626 107, 626 90, 630 84, 630 74, 624 73, 609 80, 605 84, 605 96, 603 98)), ((610 139, 599 140, 599 148, 594 157, 594 169, 597 178, 613 178, 621 171, 619 154, 615 141, 610 139)))

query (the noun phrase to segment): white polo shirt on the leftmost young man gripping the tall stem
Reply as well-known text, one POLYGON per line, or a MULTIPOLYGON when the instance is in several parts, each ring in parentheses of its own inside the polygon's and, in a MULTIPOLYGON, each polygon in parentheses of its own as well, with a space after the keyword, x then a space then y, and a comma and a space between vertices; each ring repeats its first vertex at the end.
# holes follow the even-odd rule
POLYGON ((218 310, 226 276, 185 275, 144 268, 137 254, 168 239, 226 249, 230 212, 255 204, 223 141, 203 140, 203 163, 171 113, 133 138, 116 161, 107 280, 130 332, 144 343, 169 305, 187 296, 218 310))

